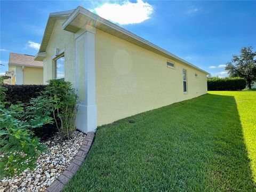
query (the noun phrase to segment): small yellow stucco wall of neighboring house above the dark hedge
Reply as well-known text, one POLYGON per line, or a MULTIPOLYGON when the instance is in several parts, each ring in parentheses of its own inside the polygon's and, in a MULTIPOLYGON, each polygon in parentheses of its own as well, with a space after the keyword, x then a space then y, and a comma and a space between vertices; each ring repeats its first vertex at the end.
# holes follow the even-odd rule
POLYGON ((24 67, 23 81, 24 85, 42 85, 43 68, 24 67))

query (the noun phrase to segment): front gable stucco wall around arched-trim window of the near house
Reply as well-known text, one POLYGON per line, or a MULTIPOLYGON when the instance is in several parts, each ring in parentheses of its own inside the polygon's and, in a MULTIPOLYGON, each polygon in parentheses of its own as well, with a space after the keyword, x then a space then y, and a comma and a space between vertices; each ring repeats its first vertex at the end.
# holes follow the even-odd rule
POLYGON ((54 77, 54 61, 52 56, 55 49, 65 49, 65 81, 75 83, 75 35, 62 29, 66 20, 57 20, 52 35, 47 45, 46 58, 44 59, 44 84, 54 77))

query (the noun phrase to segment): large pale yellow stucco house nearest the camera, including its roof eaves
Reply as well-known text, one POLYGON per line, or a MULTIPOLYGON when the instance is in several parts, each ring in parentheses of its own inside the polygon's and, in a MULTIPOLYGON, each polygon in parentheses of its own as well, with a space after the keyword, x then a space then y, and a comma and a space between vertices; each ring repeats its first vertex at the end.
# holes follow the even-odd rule
POLYGON ((80 6, 50 14, 35 60, 74 84, 83 132, 207 93, 206 71, 80 6))

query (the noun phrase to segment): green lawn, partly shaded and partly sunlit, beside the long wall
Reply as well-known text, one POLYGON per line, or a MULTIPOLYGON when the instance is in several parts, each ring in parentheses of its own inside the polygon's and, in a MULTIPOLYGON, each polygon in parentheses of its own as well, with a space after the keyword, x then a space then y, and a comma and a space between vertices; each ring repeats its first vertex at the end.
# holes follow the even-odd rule
POLYGON ((256 91, 212 91, 101 126, 64 191, 254 191, 255 111, 256 91))

